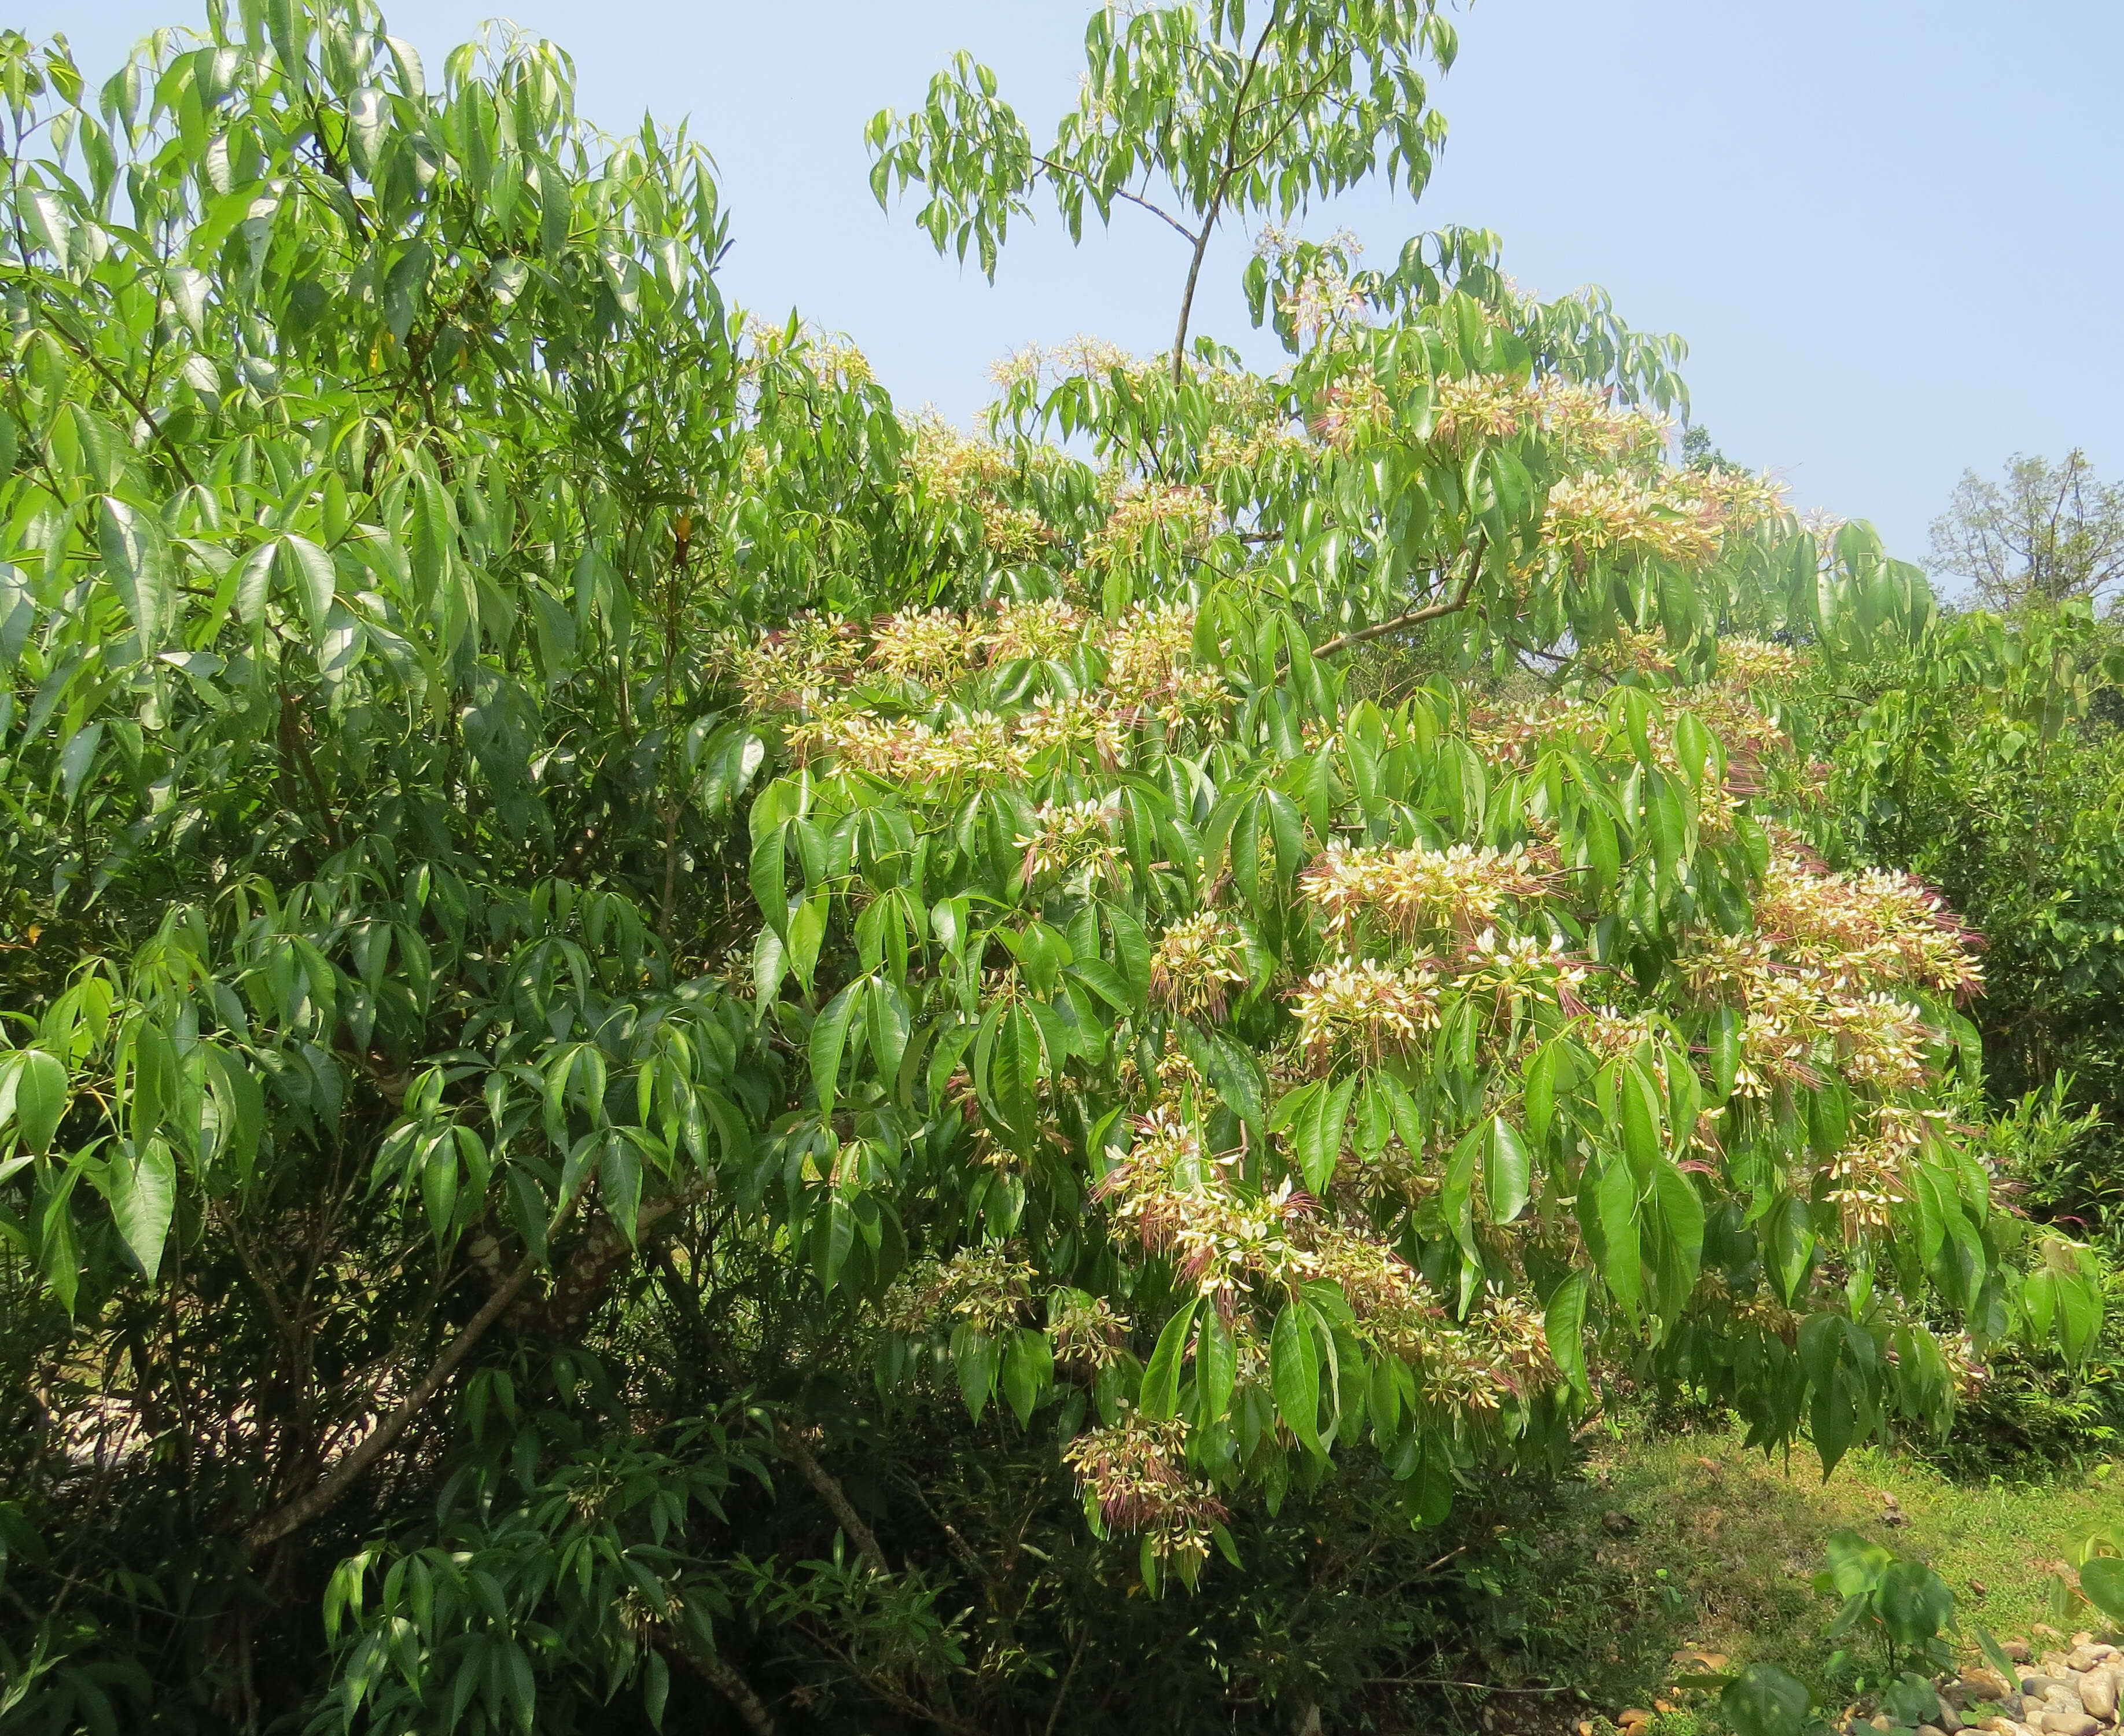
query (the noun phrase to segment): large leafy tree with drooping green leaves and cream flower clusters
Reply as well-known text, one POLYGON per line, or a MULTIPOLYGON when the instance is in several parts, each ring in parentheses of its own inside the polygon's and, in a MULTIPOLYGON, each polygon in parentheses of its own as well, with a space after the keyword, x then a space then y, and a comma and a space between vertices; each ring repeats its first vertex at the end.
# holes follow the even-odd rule
POLYGON ((1421 185, 1451 53, 1102 11, 1043 157, 971 64, 875 123, 983 261, 1037 181, 1189 240, 1168 355, 969 433, 726 308, 550 45, 0 38, 0 1715, 1015 1728, 1090 1623, 928 1524, 939 1396, 1155 1587, 1608 1381, 1833 1464, 2092 1341, 1960 1143, 1973 937, 1808 844, 1782 682, 1914 569, 1480 232, 1264 234, 1289 365, 1189 340, 1219 221, 1421 185))

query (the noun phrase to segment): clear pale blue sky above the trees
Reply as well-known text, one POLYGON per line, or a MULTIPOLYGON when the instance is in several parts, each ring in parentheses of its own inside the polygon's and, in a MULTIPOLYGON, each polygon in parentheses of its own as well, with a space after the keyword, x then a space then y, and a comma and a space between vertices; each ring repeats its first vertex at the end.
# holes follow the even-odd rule
MULTIPOLYGON (((6 0, 100 76, 193 0, 6 0)), ((1170 340, 1185 259, 1124 210, 1070 251, 1013 236, 996 287, 877 210, 862 123, 954 49, 1039 140, 1075 91, 1081 0, 404 0, 431 64, 506 11, 576 57, 584 113, 690 117, 733 219, 729 293, 847 331, 909 406, 966 419, 988 363, 1094 331, 1170 340)), ((1440 223, 1504 236, 1521 283, 1606 285, 1680 331, 1695 416, 1801 508, 1873 518, 1922 557, 1963 467, 2086 446, 2124 470, 2124 6, 2116 0, 1478 0, 1434 85, 1451 140, 1421 204, 1317 212, 1374 257, 1440 223)), ((1213 253, 1196 329, 1272 361, 1213 253)))

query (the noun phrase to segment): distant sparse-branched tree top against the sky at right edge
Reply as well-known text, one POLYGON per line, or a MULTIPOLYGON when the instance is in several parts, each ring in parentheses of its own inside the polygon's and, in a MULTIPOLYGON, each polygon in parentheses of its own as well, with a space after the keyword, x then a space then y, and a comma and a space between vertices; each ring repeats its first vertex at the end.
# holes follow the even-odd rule
POLYGON ((2096 601, 2124 580, 2124 484, 2101 482, 2077 446, 2056 465, 2016 453, 2003 489, 1965 470, 1933 521, 1931 567, 1990 608, 2096 601))

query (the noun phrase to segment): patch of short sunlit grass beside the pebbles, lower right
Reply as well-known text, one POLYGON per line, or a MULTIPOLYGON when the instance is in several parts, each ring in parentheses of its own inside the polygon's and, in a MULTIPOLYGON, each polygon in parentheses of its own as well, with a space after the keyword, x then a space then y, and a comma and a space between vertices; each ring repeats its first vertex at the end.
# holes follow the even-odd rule
MULTIPOLYGON (((2033 1630, 2050 1611, 2052 1575, 2075 1543, 2118 1521, 2124 1466, 1956 1483, 1920 1460, 1865 1449, 1825 1483, 1812 1453, 1765 1460, 1742 1451, 1737 1432, 1633 1422, 1595 1445, 1574 1509, 1576 1536, 1559 1553, 1604 1587, 1614 1617, 1610 1636, 1582 1640, 1589 1662, 1606 1666, 1604 1694, 1682 1708, 1689 1696, 1667 1683, 1706 1668, 1691 1653, 1710 1668, 1767 1660, 1820 1677, 1835 1604, 1812 1581, 1825 1538, 1846 1526, 1939 1572, 1965 1634, 1982 1623, 2041 1649, 2033 1630)), ((1621 1700, 1599 1711, 1612 1715, 1621 1700)), ((1676 1736, 1691 1728, 1672 1719, 1676 1736)))

